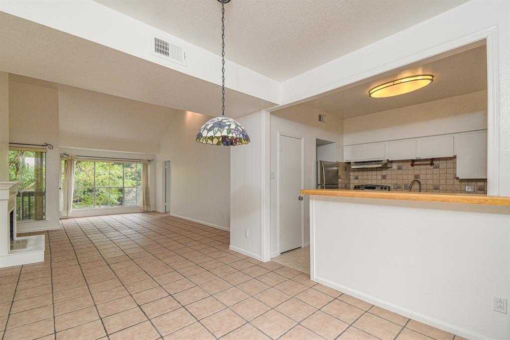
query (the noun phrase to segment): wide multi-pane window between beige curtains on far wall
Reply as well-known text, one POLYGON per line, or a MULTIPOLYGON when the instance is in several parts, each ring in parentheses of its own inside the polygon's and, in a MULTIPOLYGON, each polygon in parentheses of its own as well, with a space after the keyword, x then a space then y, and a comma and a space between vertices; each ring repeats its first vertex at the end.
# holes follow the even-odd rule
POLYGON ((142 164, 77 161, 73 209, 140 205, 142 164))

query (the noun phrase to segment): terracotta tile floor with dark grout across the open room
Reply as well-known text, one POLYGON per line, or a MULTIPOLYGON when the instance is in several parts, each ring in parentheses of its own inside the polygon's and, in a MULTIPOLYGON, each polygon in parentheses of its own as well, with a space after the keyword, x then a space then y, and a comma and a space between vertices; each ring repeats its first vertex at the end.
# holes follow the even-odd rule
MULTIPOLYGON (((453 339, 160 213, 72 218, 0 270, 2 339, 453 339)), ((455 337, 455 340, 460 339, 455 337)))

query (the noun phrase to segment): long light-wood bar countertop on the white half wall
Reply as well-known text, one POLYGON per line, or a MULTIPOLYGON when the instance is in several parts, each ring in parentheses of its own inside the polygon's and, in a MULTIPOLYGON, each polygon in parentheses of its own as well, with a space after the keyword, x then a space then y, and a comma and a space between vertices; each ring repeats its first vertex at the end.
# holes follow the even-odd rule
POLYGON ((510 206, 510 197, 465 193, 303 189, 301 195, 510 206))

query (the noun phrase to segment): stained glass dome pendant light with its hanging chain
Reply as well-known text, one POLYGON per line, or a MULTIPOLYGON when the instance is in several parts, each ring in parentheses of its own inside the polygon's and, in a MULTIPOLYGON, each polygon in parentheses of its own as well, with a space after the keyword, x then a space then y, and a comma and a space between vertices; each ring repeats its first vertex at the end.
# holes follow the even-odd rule
POLYGON ((221 116, 208 120, 196 134, 197 142, 229 147, 250 142, 241 124, 225 116, 225 4, 230 1, 218 0, 221 3, 221 116))

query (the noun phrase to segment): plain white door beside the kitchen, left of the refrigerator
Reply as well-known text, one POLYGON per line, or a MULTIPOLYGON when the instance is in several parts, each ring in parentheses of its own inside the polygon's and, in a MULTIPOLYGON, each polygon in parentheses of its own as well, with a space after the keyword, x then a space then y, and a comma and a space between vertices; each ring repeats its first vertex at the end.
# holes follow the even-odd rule
POLYGON ((279 252, 302 246, 302 139, 280 136, 279 252))

